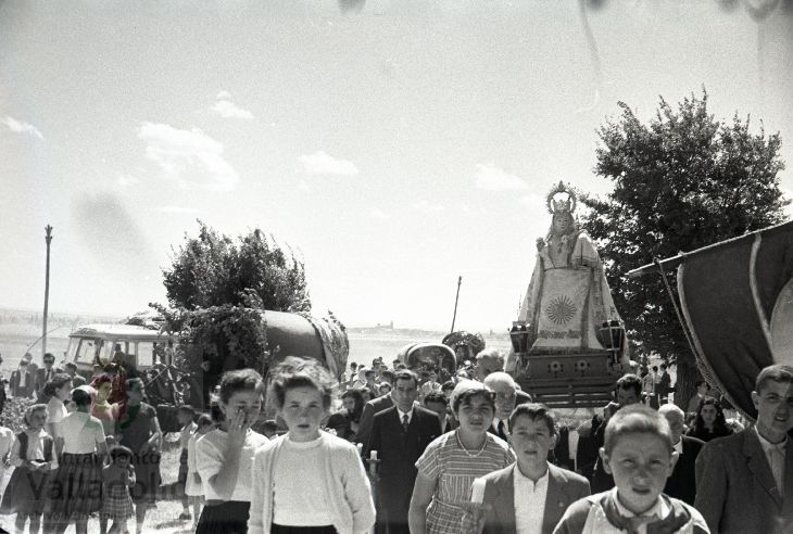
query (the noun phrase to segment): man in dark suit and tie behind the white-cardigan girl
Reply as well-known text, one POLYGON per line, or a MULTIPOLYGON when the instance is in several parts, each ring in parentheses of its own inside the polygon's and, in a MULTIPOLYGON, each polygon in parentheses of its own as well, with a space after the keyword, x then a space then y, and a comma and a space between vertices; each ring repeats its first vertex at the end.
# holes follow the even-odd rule
POLYGON ((413 371, 396 371, 394 379, 391 395, 395 406, 375 416, 366 457, 377 450, 380 460, 376 530, 410 534, 407 511, 418 474, 416 460, 441 434, 441 424, 435 411, 415 404, 418 378, 413 371))

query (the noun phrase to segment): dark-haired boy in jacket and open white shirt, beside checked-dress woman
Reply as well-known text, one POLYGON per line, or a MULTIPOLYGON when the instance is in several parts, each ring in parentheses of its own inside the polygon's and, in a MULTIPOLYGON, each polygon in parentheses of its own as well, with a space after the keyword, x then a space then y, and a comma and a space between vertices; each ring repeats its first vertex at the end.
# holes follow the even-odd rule
POLYGON ((556 441, 556 422, 545 406, 518 405, 508 421, 516 461, 480 479, 482 506, 466 512, 463 532, 476 518, 486 534, 514 534, 538 524, 539 532, 551 534, 567 507, 590 494, 589 482, 546 460, 556 441))

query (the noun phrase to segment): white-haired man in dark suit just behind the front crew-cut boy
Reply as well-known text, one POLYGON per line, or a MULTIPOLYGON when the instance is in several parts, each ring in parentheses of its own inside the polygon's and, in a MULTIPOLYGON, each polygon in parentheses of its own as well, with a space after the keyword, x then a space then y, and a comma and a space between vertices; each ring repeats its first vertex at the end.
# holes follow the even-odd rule
POLYGON ((671 437, 675 442, 675 450, 678 453, 678 461, 675 463, 675 470, 666 480, 664 493, 682 500, 687 505, 694 506, 694 499, 696 498, 696 473, 694 465, 705 442, 696 437, 683 435, 685 414, 678 406, 664 404, 658 409, 658 412, 669 423, 671 437))

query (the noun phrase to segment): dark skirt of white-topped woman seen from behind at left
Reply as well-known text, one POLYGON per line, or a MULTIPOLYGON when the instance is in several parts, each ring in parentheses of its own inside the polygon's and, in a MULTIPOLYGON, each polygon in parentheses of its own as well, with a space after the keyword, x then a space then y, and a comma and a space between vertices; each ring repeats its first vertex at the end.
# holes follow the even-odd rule
POLYGON ((96 454, 61 455, 45 512, 54 521, 89 516, 102 508, 102 463, 96 454))

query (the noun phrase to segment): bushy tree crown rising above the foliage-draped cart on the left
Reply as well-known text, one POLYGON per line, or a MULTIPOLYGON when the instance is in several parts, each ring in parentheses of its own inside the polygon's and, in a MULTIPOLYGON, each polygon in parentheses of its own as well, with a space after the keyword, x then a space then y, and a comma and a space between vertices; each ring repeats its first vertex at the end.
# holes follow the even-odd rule
POLYGON ((304 266, 291 251, 285 253, 260 229, 235 242, 198 223, 198 237, 185 234, 171 267, 163 269, 172 307, 240 306, 253 293, 265 309, 311 310, 304 266))

